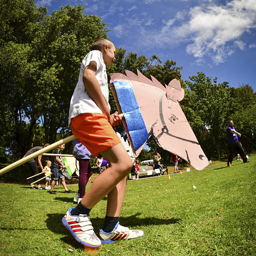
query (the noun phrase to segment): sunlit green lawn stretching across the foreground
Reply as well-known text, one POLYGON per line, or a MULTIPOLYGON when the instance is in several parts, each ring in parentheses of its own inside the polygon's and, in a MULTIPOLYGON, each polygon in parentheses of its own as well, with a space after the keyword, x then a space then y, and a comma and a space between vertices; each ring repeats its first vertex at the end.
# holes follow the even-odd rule
MULTIPOLYGON (((120 223, 142 229, 144 237, 103 245, 98 255, 256 255, 256 154, 202 171, 127 182, 120 223), (196 188, 193 188, 196 187, 196 188)), ((78 186, 69 186, 77 191, 78 186)), ((62 225, 74 194, 0 184, 0 254, 88 255, 62 225), (70 251, 71 249, 73 251, 70 251)), ((97 232, 106 198, 91 211, 97 232)))

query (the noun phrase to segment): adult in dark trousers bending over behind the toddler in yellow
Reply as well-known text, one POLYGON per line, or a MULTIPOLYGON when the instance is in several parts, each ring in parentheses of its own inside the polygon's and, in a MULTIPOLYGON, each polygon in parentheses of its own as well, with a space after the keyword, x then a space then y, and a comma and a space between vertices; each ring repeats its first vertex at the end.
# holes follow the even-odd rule
MULTIPOLYGON (((29 155, 33 154, 34 152, 37 152, 38 150, 40 150, 40 149, 42 149, 42 148, 45 148, 45 147, 47 147, 47 146, 49 146, 49 145, 50 145, 49 143, 46 143, 46 144, 44 144, 44 146, 42 146, 42 147, 41 147, 41 146, 36 146, 36 147, 34 147, 34 148, 31 148, 30 150, 28 150, 28 152, 26 152, 25 156, 29 156, 29 155)), ((24 157, 25 157, 25 156, 24 156, 24 157)), ((40 166, 40 168, 41 168, 41 171, 42 171, 42 172, 45 172, 41 160, 42 160, 42 155, 38 156, 38 157, 36 158, 36 161, 35 161, 35 159, 31 159, 31 160, 29 160, 29 161, 26 163, 26 164, 28 165, 29 169, 31 170, 31 172, 32 172, 33 175, 39 173, 36 162, 38 162, 38 164, 39 164, 39 166, 40 166)), ((30 178, 30 183, 33 183, 33 182, 36 181, 36 180, 38 180, 38 177, 30 178)), ((30 187, 30 189, 39 189, 39 190, 44 189, 44 188, 42 188, 42 186, 41 186, 41 184, 40 184, 40 181, 36 182, 36 184, 37 184, 37 188, 35 187, 34 184, 32 184, 31 187, 30 187)))

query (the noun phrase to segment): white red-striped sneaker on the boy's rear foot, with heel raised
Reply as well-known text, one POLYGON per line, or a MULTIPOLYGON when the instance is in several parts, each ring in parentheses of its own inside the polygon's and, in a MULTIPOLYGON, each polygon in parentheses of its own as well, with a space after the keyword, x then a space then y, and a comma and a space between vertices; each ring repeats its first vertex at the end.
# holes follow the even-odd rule
POLYGON ((92 222, 90 221, 90 214, 72 215, 70 208, 65 216, 62 218, 62 224, 70 231, 76 241, 89 247, 100 247, 101 241, 94 233, 92 222))

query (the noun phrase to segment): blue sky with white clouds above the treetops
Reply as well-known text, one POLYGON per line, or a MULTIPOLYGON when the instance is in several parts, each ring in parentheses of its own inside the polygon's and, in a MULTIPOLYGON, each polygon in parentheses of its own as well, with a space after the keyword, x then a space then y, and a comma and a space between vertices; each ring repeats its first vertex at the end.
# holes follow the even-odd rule
POLYGON ((50 14, 63 4, 83 4, 84 14, 108 23, 116 47, 182 66, 230 86, 256 91, 256 0, 38 0, 50 14))

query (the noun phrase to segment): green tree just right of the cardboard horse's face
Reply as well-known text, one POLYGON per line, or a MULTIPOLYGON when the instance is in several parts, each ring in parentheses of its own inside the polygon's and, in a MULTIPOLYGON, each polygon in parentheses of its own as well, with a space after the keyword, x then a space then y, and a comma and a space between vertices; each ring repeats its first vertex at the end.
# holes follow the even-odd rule
POLYGON ((226 120, 230 105, 228 95, 228 82, 217 84, 217 78, 213 80, 203 72, 198 72, 197 76, 189 77, 190 81, 185 81, 191 91, 191 106, 194 113, 199 118, 196 125, 197 130, 201 130, 200 138, 203 140, 203 150, 211 156, 209 147, 212 141, 215 144, 216 156, 220 159, 221 141, 226 132, 226 120))

